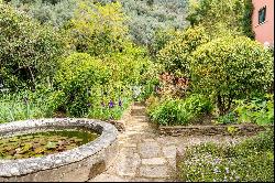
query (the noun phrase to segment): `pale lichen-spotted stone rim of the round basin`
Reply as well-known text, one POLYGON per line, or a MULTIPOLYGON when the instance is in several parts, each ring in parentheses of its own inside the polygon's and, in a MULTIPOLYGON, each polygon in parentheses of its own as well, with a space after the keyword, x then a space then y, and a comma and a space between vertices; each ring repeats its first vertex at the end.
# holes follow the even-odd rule
POLYGON ((68 151, 38 158, 0 160, 0 177, 25 175, 81 161, 109 147, 116 141, 118 136, 118 130, 114 126, 87 118, 45 118, 14 121, 0 125, 0 133, 18 131, 20 129, 26 130, 54 126, 86 127, 90 129, 101 128, 102 131, 96 140, 68 151))

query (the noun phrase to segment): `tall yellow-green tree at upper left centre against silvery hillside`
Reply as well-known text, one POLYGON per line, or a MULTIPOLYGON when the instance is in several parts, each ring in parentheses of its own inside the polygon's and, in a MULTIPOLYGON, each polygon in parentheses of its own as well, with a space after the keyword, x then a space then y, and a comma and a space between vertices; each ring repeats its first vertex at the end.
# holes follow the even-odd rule
POLYGON ((78 3, 66 30, 77 52, 103 57, 123 50, 128 33, 124 19, 119 2, 102 6, 85 0, 78 3))

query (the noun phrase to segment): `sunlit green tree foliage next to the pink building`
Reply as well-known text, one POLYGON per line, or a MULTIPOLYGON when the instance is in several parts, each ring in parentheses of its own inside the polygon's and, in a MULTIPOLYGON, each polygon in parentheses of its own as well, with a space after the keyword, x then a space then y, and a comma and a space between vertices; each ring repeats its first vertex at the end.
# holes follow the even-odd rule
POLYGON ((221 34, 254 37, 251 0, 199 0, 190 1, 187 20, 191 25, 201 24, 211 36, 221 34))

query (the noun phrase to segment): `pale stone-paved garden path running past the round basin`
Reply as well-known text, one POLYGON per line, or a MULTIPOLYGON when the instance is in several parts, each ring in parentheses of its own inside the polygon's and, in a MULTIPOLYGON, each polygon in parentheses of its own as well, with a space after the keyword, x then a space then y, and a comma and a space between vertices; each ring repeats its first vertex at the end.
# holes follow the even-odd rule
POLYGON ((175 181, 176 157, 186 147, 207 141, 230 142, 229 137, 160 137, 147 122, 145 108, 134 105, 119 134, 119 154, 108 170, 89 182, 167 182, 175 181))

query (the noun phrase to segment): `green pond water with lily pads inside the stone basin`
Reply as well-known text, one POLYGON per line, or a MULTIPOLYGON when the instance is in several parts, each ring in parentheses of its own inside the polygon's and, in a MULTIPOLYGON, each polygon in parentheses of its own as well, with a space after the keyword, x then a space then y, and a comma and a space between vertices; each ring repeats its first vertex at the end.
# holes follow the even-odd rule
POLYGON ((95 140, 89 130, 48 130, 12 137, 0 137, 0 159, 25 159, 63 152, 95 140))

